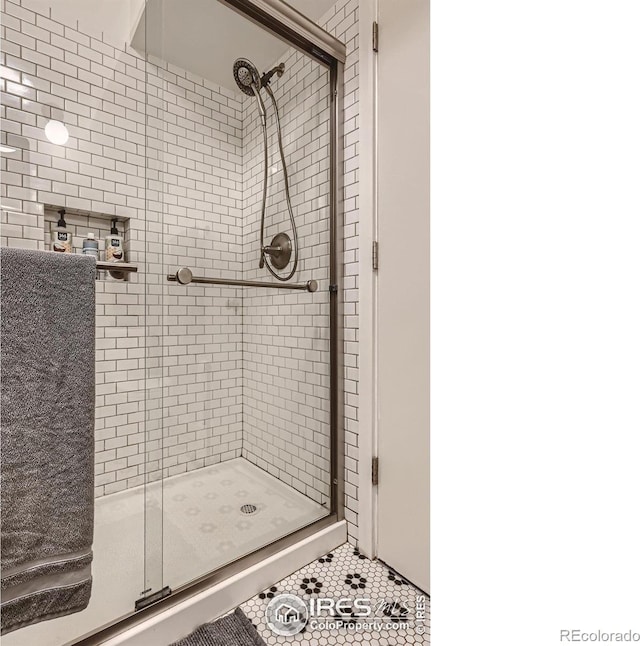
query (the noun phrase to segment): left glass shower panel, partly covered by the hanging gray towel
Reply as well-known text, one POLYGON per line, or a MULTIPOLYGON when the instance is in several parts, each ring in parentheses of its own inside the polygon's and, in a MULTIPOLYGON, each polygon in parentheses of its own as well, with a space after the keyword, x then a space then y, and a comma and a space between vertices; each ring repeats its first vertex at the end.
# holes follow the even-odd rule
POLYGON ((101 270, 95 283, 89 606, 4 635, 7 646, 70 643, 131 614, 162 586, 164 263, 155 251, 157 155, 147 148, 157 89, 147 81, 146 43, 128 40, 141 4, 2 3, 2 244, 51 251, 64 210, 72 253, 93 234, 105 262, 115 227, 137 269, 101 270))

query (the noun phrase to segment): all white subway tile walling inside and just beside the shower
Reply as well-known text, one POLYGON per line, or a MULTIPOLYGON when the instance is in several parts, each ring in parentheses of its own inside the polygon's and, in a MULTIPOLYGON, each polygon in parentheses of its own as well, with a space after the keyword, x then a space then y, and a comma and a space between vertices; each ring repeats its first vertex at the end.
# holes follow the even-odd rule
MULTIPOLYGON (((352 542, 357 7, 357 0, 340 0, 320 21, 348 48, 343 294, 352 542)), ((97 285, 96 495, 141 484, 145 469, 159 478, 242 454, 327 502, 328 73, 290 50, 281 59, 285 75, 273 81, 301 242, 297 280, 314 278, 320 290, 185 288, 168 283, 166 273, 189 266, 194 274, 259 275, 262 153, 253 100, 163 61, 145 61, 129 47, 83 33, 81 25, 57 22, 55 7, 51 13, 30 10, 28 0, 2 2, 2 144, 16 151, 2 155, 0 243, 47 249, 53 216, 45 222, 45 204, 128 222, 127 260, 140 273, 97 285), (50 119, 67 125, 65 146, 44 136, 50 119)), ((280 229, 290 233, 273 134, 270 151, 267 241, 280 229)), ((84 235, 84 222, 74 226, 84 235)))

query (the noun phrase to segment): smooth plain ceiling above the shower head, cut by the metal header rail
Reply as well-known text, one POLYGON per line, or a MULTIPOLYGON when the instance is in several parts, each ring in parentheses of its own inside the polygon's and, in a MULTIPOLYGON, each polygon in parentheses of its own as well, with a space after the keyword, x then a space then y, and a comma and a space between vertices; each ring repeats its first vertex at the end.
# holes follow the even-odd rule
MULTIPOLYGON (((288 4, 317 22, 335 0, 288 4)), ((237 58, 248 58, 262 72, 288 49, 276 36, 216 0, 147 0, 131 44, 233 91, 238 89, 233 78, 237 58)))

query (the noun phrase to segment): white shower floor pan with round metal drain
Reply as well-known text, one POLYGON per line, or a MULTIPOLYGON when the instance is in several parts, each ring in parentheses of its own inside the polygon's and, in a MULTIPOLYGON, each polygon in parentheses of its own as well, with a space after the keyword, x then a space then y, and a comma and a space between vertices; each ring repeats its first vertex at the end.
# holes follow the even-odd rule
POLYGON ((146 499, 146 519, 143 487, 96 500, 89 606, 4 635, 2 646, 71 643, 131 613, 149 586, 184 585, 328 513, 244 458, 153 483, 146 499))

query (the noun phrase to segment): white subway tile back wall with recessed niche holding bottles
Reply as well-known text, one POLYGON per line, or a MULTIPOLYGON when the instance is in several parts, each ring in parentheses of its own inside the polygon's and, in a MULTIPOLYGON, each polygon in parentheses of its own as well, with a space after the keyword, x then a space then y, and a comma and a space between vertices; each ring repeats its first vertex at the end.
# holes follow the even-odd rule
MULTIPOLYGON (((46 204, 128 222, 140 272, 97 285, 100 496, 141 484, 145 469, 159 478, 240 455, 240 295, 166 273, 242 275, 242 103, 55 13, 3 2, 2 144, 16 150, 1 161, 0 243, 48 249, 46 204), (46 139, 49 119, 67 125, 66 145, 46 139)), ((104 238, 88 215, 68 220, 76 247, 90 229, 104 238)))

